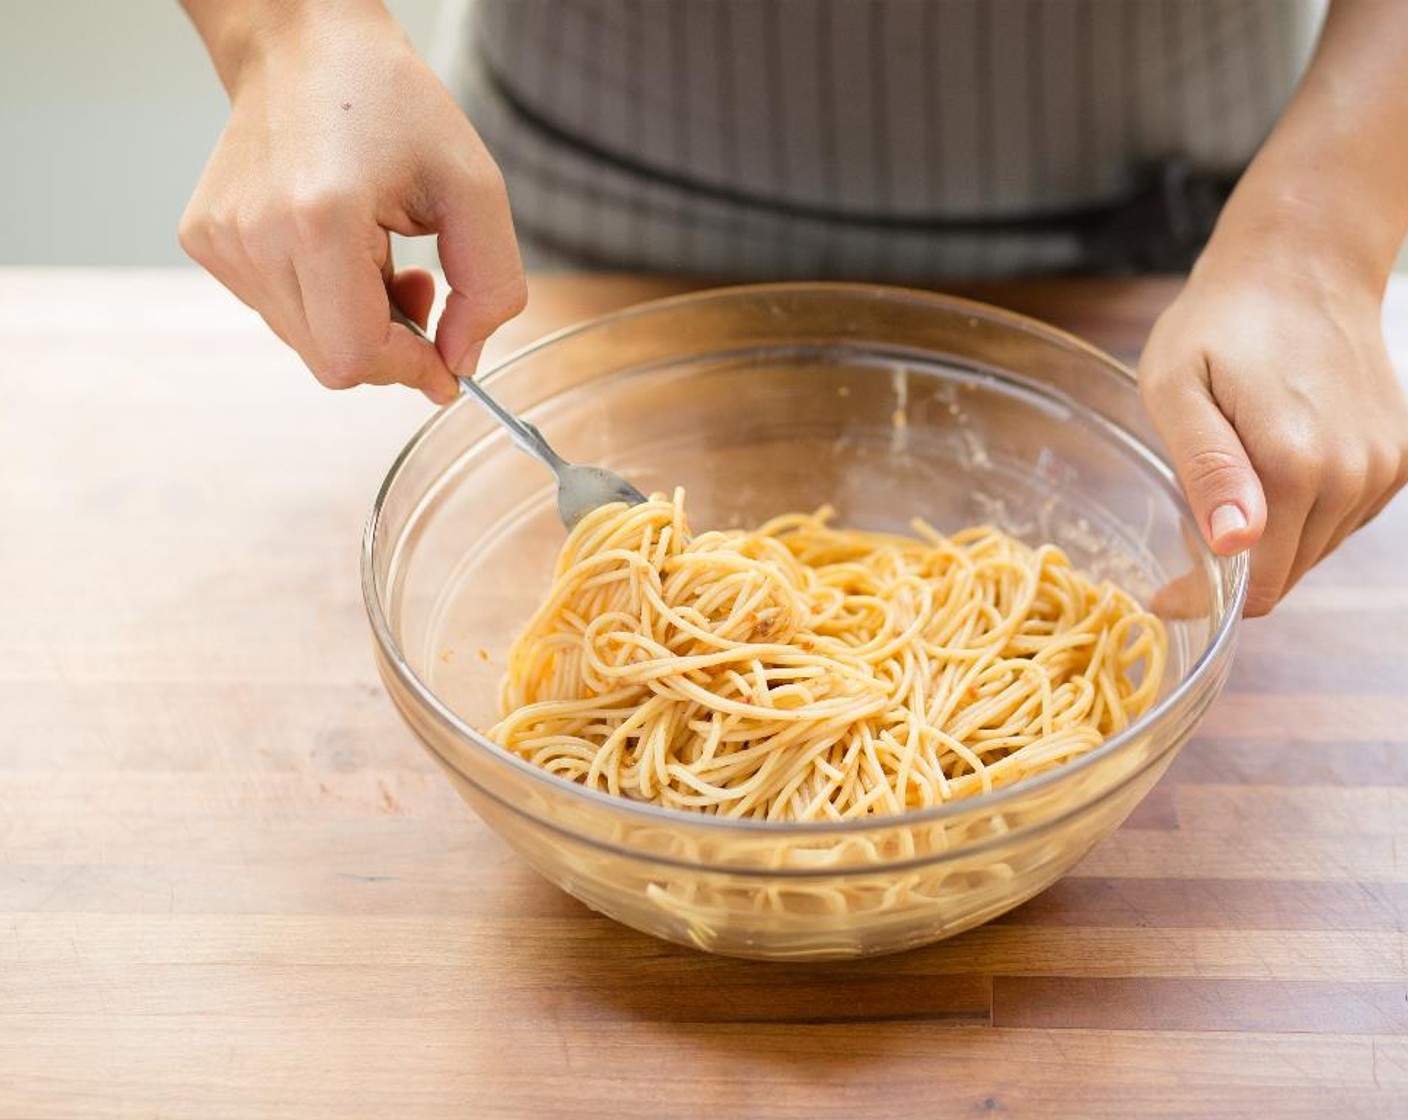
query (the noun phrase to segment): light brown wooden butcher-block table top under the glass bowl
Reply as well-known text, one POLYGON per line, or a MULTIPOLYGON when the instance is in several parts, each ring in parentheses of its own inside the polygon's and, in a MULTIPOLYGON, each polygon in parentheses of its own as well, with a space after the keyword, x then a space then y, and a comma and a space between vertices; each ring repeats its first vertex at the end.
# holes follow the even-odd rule
MULTIPOLYGON (((1129 356, 1174 290, 981 294, 1129 356)), ((0 1117, 1408 1116, 1408 499, 1070 878, 779 966, 560 895, 401 726, 358 544, 427 414, 194 272, 0 270, 0 1117)))

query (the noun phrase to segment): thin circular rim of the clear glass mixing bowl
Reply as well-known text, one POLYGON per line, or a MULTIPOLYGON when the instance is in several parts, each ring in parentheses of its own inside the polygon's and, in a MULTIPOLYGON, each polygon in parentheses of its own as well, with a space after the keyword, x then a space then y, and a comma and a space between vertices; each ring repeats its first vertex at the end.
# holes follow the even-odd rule
MULTIPOLYGON (((901 287, 894 285, 869 285, 869 283, 848 283, 843 280, 807 280, 807 282, 781 282, 781 283, 758 283, 758 285, 731 285, 725 287, 708 287, 697 292, 686 292, 679 296, 666 296, 663 299, 646 300, 642 303, 632 304, 618 311, 610 311, 604 316, 596 316, 593 318, 584 320, 582 323, 574 323, 569 327, 563 327, 553 331, 536 342, 531 342, 522 347, 507 358, 504 358, 491 371, 484 373, 480 380, 487 389, 493 389, 496 380, 508 376, 514 366, 520 362, 531 358, 539 351, 548 349, 558 342, 572 338, 577 334, 586 334, 589 331, 597 330, 607 324, 618 325, 628 323, 632 318, 642 318, 659 311, 667 310, 681 310, 687 309, 694 303, 717 303, 722 299, 749 299, 756 296, 810 296, 810 294, 843 294, 843 296, 857 296, 870 299, 887 299, 887 300, 907 300, 911 303, 922 303, 938 310, 948 313, 960 313, 969 317, 981 318, 998 327, 1005 327, 1021 334, 1035 335, 1046 342, 1052 342, 1067 349, 1074 349, 1086 354, 1086 356, 1105 366, 1105 369, 1119 375, 1131 383, 1136 383, 1135 373, 1124 362, 1117 361, 1111 355, 1105 354, 1098 347, 1086 342, 1083 338, 1063 331, 1059 327, 1052 327, 1042 323, 1031 316, 1024 316, 1018 311, 1008 311, 1001 307, 994 307, 993 304, 981 303, 979 300, 964 299, 960 296, 948 296, 938 292, 929 292, 917 287, 901 287)), ((703 828, 703 830, 718 830, 719 833, 755 833, 755 834, 769 834, 769 835, 790 835, 790 837, 808 837, 808 838, 825 838, 828 835, 836 837, 855 837, 857 833, 879 833, 890 828, 905 828, 924 824, 936 824, 955 817, 969 816, 981 811, 1001 811, 1001 807, 1008 802, 1017 800, 1026 796, 1028 793, 1046 789, 1049 786, 1059 785, 1062 782, 1070 780, 1079 773, 1094 766, 1098 761, 1117 754, 1125 744, 1145 734, 1153 724, 1157 724, 1163 717, 1176 707, 1181 706, 1183 699, 1193 692, 1207 676, 1208 669, 1212 664, 1219 659, 1222 651, 1232 642, 1233 634, 1239 618, 1242 617, 1242 609, 1246 603, 1247 595, 1247 561, 1243 554, 1235 556, 1215 556, 1212 555, 1212 562, 1217 566, 1219 575, 1226 583, 1231 578, 1232 596, 1228 603, 1228 609, 1224 613, 1222 620, 1218 623, 1217 631, 1212 634, 1212 640, 1207 644, 1198 658, 1194 661, 1193 668, 1152 709, 1149 709, 1143 716, 1135 720, 1129 727, 1117 735, 1105 740, 1100 747, 1080 758, 1064 762, 1060 766, 1055 766, 1045 773, 1025 780, 1014 782, 1008 786, 1001 786, 988 793, 980 793, 973 797, 964 797, 956 802, 948 802, 945 804, 931 806, 928 809, 917 809, 910 813, 895 813, 890 816, 876 816, 876 817, 860 817, 855 820, 845 821, 765 821, 755 819, 735 819, 735 817, 718 817, 708 813, 689 813, 683 809, 667 809, 665 806, 649 804, 645 802, 632 802, 625 797, 614 797, 610 793, 603 793, 600 790, 589 789, 587 786, 577 785, 576 782, 569 782, 565 778, 559 778, 553 773, 534 766, 531 762, 518 758, 503 749, 498 744, 482 735, 467 723, 465 723, 455 711, 446 707, 439 697, 425 685, 424 680, 417 676, 411 666, 406 662, 401 651, 391 635, 390 620, 383 610, 380 596, 376 589, 376 568, 375 568, 375 542, 376 531, 382 521, 383 507, 386 499, 396 485, 400 476, 401 466, 415 454, 425 438, 439 425, 446 423, 446 417, 453 409, 474 409, 479 407, 473 402, 460 396, 456 402, 445 409, 436 411, 429 420, 427 420, 411 438, 407 441, 406 447, 401 448, 400 454, 391 462, 391 466, 386 472, 386 478, 382 480, 382 486, 377 489, 376 500, 372 504, 372 514, 367 517, 366 530, 362 534, 362 599, 366 607, 367 620, 372 624, 372 633, 376 638, 376 644, 382 652, 383 664, 390 666, 391 672, 396 673, 397 679, 410 693, 429 711, 435 718, 445 724, 451 731, 455 733, 456 738, 469 742, 476 751, 486 757, 490 765, 507 765, 518 771, 521 775, 527 776, 529 782, 541 785, 545 788, 548 796, 566 796, 573 799, 580 799, 587 806, 596 806, 608 813, 622 814, 625 817, 636 817, 642 824, 677 824, 687 828, 703 828)), ((1135 438, 1135 437, 1128 437, 1135 438)), ((1143 441, 1136 440, 1148 451, 1146 458, 1156 463, 1164 476, 1177 485, 1177 479, 1164 458, 1155 449, 1149 448, 1143 441)), ((515 452, 521 454, 521 452, 515 452)), ((1186 506, 1186 503, 1183 503, 1186 506)), ((393 547, 398 545, 398 540, 391 542, 393 547)), ((1201 551, 1211 555, 1207 544, 1202 538, 1198 538, 1198 545, 1201 551)), ((424 740, 422 740, 424 741, 424 740)), ((431 748, 434 749, 434 748, 431 748)), ((1150 759, 1145 766, 1153 765, 1159 758, 1163 757, 1163 751, 1156 751, 1150 755, 1150 759)), ((436 751, 441 761, 453 769, 456 773, 462 773, 460 768, 453 764, 452 759, 445 758, 436 751)), ((1140 768, 1140 771, 1145 768, 1140 768)), ((466 780, 473 782, 469 775, 463 775, 466 780)), ((474 782, 474 785, 479 785, 474 782)), ((1104 792, 1104 790, 1102 790, 1104 792)))

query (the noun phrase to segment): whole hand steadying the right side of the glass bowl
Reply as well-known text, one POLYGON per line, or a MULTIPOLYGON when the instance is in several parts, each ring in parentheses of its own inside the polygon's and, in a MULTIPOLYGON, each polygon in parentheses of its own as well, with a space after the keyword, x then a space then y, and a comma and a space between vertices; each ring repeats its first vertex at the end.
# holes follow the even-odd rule
POLYGON ((1408 482, 1380 294, 1304 258, 1205 254, 1145 347, 1145 406, 1204 537, 1252 549, 1250 616, 1408 482))

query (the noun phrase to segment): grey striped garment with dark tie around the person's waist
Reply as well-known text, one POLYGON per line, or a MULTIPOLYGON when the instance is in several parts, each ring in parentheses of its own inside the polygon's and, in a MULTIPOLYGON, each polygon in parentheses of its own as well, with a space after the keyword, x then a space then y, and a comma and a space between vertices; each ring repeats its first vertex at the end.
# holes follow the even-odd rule
POLYGON ((1152 163, 1233 176, 1322 7, 473 0, 444 69, 559 258, 993 275, 1087 263, 1081 216, 1152 163))

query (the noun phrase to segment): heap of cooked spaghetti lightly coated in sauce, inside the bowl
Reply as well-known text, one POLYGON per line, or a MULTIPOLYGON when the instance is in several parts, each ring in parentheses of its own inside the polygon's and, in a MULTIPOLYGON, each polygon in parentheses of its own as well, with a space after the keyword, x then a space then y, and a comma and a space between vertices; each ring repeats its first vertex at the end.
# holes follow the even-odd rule
POLYGON ((839 821, 1057 766, 1157 696, 1159 618, 993 527, 691 535, 683 492, 573 530, 490 738, 672 809, 839 821))

